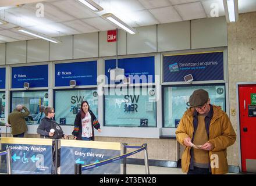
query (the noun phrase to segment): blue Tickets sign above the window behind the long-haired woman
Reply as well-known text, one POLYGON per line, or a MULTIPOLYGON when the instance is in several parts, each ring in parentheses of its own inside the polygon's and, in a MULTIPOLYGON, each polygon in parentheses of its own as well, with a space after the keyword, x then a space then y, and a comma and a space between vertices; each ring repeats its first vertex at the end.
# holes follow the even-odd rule
POLYGON ((97 60, 55 64, 55 87, 69 86, 70 80, 78 86, 97 85, 97 60))

